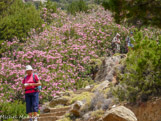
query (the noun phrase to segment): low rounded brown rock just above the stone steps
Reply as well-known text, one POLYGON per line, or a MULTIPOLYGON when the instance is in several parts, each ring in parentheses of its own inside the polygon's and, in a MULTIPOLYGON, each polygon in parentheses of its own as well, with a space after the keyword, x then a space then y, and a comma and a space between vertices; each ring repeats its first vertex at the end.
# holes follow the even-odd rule
POLYGON ((50 103, 49 103, 49 106, 50 107, 55 107, 56 105, 67 105, 67 103, 69 102, 69 99, 67 98, 64 98, 64 97, 58 97, 58 98, 55 98, 53 99, 50 103))

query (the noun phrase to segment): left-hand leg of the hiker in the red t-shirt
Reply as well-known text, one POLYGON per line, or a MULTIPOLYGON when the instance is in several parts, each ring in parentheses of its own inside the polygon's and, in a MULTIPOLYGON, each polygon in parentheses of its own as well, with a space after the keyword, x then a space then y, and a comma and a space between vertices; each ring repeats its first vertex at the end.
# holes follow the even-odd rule
POLYGON ((26 113, 29 115, 29 118, 32 119, 32 100, 30 94, 25 94, 26 101, 26 113))

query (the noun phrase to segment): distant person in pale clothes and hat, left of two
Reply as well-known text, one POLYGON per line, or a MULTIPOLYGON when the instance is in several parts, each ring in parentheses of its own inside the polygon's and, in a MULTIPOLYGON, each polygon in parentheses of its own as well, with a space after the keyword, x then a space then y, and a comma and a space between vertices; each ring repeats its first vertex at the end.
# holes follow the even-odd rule
POLYGON ((117 33, 116 36, 113 38, 112 44, 115 45, 112 48, 113 52, 114 53, 120 53, 120 44, 121 44, 121 42, 120 42, 120 34, 119 33, 117 33))

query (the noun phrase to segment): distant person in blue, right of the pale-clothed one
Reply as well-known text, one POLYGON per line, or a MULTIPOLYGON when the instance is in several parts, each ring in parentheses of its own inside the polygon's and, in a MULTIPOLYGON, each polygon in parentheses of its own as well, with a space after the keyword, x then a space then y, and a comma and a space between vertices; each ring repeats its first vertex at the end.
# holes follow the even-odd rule
POLYGON ((130 32, 130 36, 126 37, 126 48, 127 48, 127 52, 129 51, 129 47, 133 48, 134 45, 132 44, 132 41, 135 41, 134 37, 133 37, 133 32, 130 32))

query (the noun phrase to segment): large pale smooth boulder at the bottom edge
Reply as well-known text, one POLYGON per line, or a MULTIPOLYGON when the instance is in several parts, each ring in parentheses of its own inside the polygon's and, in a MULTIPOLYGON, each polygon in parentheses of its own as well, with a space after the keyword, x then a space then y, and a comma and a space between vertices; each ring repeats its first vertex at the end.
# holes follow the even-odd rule
POLYGON ((118 106, 107 111, 103 121, 137 121, 137 118, 130 109, 118 106))

